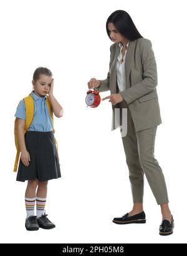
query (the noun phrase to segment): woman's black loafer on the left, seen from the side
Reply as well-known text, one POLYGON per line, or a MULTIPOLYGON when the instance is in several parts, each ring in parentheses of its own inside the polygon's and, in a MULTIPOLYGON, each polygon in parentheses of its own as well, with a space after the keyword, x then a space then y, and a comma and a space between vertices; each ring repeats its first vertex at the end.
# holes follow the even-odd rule
POLYGON ((122 217, 114 218, 114 223, 117 224, 130 224, 130 223, 146 223, 145 212, 128 217, 128 213, 122 217))

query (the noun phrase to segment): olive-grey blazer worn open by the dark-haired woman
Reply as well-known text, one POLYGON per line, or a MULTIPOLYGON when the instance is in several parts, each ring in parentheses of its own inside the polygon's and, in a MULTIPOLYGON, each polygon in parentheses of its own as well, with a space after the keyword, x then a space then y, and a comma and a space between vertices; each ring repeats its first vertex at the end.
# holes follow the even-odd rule
MULTIPOLYGON (((118 43, 112 44, 107 79, 100 80, 98 91, 110 90, 111 94, 118 93, 116 66, 119 53, 118 43)), ((156 60, 149 39, 139 38, 129 41, 125 58, 125 79, 126 88, 120 92, 120 95, 130 110, 135 131, 160 125, 160 106, 156 93, 156 60)), ((112 105, 112 130, 118 128, 114 121, 115 108, 118 108, 118 105, 112 105)))

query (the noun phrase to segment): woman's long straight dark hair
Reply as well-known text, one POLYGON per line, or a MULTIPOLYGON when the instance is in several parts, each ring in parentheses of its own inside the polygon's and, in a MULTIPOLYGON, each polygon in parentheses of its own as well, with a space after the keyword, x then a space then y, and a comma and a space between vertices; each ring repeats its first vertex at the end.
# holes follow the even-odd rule
POLYGON ((108 17, 106 28, 108 37, 110 38, 108 23, 113 23, 119 33, 130 41, 138 38, 143 38, 143 36, 141 36, 135 24, 133 23, 132 18, 126 11, 118 10, 110 14, 110 16, 108 17))

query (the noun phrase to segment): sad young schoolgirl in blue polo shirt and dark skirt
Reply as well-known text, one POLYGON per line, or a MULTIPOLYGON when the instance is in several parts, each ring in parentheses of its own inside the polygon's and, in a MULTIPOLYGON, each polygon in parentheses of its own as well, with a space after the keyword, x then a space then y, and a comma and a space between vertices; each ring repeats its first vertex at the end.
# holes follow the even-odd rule
POLYGON ((63 109, 54 97, 54 79, 49 69, 37 68, 33 74, 32 84, 34 90, 30 97, 27 97, 31 99, 30 105, 27 105, 24 98, 20 101, 15 114, 17 140, 21 152, 16 180, 28 181, 25 193, 26 229, 38 230, 39 227, 46 229, 55 227, 44 213, 48 180, 61 177, 49 106, 51 112, 59 118, 63 115, 63 109), (47 101, 50 105, 46 103, 47 101), (31 118, 32 122, 25 133, 27 118, 31 118))

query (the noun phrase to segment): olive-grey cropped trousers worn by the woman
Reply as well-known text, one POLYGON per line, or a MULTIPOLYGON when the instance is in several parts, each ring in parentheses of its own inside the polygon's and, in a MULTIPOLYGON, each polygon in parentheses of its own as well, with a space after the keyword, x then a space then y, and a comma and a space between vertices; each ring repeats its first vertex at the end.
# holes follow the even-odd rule
MULTIPOLYGON (((125 105, 122 101, 122 104, 118 106, 124 108, 125 105)), ((122 141, 129 170, 133 203, 143 203, 144 174, 158 205, 168 203, 165 177, 154 155, 157 126, 136 132, 127 105, 125 108, 127 108, 127 135, 122 136, 122 141)))

